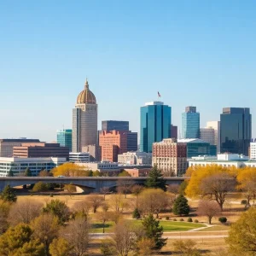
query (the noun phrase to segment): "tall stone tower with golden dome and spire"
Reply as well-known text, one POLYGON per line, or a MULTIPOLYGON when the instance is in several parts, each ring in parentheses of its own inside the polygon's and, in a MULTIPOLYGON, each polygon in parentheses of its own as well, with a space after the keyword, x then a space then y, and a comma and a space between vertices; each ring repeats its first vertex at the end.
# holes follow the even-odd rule
POLYGON ((82 148, 97 143, 96 97, 89 89, 86 79, 84 90, 79 93, 73 108, 72 151, 82 152, 82 148))

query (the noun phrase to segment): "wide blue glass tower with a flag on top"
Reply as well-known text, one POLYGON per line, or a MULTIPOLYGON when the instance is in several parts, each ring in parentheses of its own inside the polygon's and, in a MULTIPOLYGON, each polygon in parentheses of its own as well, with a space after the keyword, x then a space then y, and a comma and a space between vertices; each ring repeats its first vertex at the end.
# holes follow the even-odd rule
POLYGON ((148 102, 141 108, 140 151, 152 152, 153 143, 171 137, 172 108, 163 102, 148 102))

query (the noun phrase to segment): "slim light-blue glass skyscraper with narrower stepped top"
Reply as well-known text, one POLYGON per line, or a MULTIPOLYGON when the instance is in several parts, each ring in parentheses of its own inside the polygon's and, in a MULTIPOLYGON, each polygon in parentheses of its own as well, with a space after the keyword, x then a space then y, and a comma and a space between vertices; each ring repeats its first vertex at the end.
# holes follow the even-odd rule
POLYGON ((186 107, 182 114, 182 137, 200 137, 200 113, 196 112, 196 107, 186 107))

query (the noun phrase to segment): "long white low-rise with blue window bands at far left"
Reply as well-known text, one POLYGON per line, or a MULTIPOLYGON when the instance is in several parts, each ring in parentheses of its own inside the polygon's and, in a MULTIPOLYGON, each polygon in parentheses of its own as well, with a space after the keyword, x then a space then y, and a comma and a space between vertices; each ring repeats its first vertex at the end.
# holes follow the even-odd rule
POLYGON ((47 158, 19 158, 19 157, 0 157, 0 177, 6 177, 12 171, 15 176, 25 172, 29 168, 32 176, 38 176, 42 170, 50 171, 56 166, 61 166, 66 162, 66 158, 47 157, 47 158))

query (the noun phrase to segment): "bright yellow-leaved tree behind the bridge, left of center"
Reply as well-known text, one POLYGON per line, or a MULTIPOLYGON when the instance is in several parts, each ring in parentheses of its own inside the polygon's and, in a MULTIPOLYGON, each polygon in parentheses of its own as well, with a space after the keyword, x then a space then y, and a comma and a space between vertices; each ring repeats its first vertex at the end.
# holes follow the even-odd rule
POLYGON ((79 166, 73 163, 65 163, 61 166, 55 167, 51 170, 55 177, 65 176, 65 177, 89 177, 92 173, 86 170, 86 167, 79 166))

